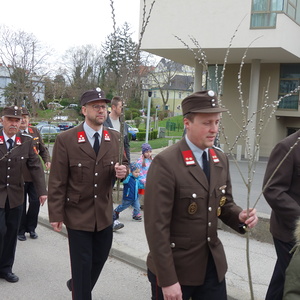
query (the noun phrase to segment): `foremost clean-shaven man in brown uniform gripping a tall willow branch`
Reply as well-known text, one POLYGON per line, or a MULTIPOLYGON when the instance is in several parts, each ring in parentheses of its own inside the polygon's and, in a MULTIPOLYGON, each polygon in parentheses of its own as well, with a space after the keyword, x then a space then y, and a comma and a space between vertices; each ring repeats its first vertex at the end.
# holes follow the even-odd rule
POLYGON ((213 91, 182 101, 186 134, 156 155, 147 174, 145 230, 155 300, 227 299, 220 218, 243 233, 257 223, 232 199, 227 156, 214 148, 221 112, 213 91))

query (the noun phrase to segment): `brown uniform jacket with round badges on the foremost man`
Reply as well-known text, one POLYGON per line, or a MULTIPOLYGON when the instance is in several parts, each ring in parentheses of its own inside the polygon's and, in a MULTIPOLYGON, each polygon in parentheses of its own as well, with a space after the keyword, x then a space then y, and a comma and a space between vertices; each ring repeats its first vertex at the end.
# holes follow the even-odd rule
POLYGON ((218 278, 224 279, 227 262, 217 234, 218 207, 222 205, 219 218, 236 231, 242 209, 232 199, 228 159, 214 151, 210 185, 185 139, 157 155, 149 168, 144 204, 147 266, 162 287, 176 282, 202 285, 209 249, 218 278))

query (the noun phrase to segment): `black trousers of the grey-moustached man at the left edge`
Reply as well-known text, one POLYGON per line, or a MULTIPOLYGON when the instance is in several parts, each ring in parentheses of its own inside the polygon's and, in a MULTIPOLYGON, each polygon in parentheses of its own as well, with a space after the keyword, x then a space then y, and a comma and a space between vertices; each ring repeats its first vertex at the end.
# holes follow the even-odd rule
POLYGON ((21 216, 22 205, 10 208, 7 198, 0 208, 0 273, 12 273, 21 216))

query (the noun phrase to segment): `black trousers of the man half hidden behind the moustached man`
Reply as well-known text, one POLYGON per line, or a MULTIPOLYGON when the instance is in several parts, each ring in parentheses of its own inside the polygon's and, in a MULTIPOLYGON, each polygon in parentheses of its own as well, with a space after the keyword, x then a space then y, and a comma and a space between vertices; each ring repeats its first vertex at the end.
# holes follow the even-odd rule
POLYGON ((25 232, 35 231, 38 224, 39 211, 40 211, 40 201, 37 196, 34 184, 33 182, 25 182, 23 213, 22 213, 19 234, 25 234, 25 232), (28 194, 28 209, 27 209, 27 194, 28 194))

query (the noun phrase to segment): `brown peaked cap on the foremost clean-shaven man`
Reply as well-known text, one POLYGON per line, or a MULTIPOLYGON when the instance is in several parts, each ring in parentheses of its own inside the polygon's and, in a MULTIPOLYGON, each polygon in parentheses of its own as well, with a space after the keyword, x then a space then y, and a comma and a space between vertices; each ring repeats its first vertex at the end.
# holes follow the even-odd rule
POLYGON ((222 108, 218 104, 217 94, 212 91, 195 92, 182 100, 182 113, 218 113, 228 109, 222 108))

